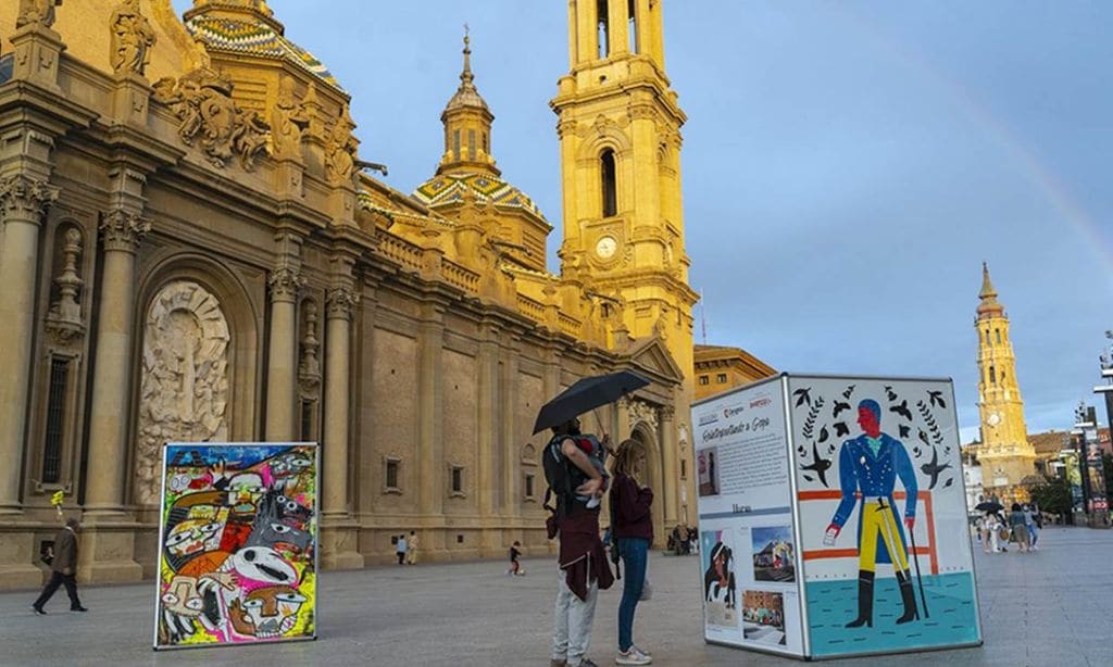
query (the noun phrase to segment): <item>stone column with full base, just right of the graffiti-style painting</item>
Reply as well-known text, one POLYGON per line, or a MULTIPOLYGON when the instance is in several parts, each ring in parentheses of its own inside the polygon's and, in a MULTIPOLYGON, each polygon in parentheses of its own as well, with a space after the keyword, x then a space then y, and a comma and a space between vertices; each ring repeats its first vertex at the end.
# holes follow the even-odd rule
POLYGON ((363 567, 358 525, 348 505, 352 310, 358 301, 351 278, 327 296, 325 334, 325 446, 321 556, 328 568, 363 567))

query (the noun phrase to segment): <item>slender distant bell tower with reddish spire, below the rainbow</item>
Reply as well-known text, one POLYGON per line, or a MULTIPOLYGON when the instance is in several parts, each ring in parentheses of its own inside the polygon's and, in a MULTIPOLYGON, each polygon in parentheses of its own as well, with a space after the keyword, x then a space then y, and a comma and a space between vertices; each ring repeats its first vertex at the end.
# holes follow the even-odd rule
POLYGON ((1024 425, 1024 400, 1016 381, 1016 357, 1008 337, 1008 316, 997 301, 989 268, 982 265, 981 303, 974 328, 978 337, 978 411, 982 417, 983 486, 1003 499, 1026 499, 1020 484, 1035 472, 1035 449, 1024 425))

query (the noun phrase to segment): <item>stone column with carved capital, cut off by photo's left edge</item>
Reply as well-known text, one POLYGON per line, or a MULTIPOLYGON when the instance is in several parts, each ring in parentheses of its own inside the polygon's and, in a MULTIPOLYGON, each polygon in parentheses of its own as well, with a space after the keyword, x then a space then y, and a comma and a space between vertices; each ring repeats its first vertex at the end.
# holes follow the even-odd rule
POLYGON ((18 514, 23 469, 28 372, 35 330, 39 226, 58 189, 23 173, 0 179, 0 515, 18 514))

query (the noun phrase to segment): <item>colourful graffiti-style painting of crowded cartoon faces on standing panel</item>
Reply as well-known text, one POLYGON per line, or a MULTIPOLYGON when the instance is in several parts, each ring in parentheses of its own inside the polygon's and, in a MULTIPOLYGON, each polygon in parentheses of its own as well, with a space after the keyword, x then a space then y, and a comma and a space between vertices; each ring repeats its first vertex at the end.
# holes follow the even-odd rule
POLYGON ((164 448, 155 648, 312 639, 317 447, 164 448))

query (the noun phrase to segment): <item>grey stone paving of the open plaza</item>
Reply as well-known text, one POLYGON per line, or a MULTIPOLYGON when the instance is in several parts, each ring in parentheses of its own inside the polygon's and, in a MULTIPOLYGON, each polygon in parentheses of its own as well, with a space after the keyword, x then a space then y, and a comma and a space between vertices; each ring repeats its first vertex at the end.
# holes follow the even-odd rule
MULTIPOLYGON (((839 660, 883 667, 1113 666, 1113 530, 1048 528, 1042 550, 983 554, 975 545, 985 646, 839 660)), ((152 585, 83 588, 89 614, 65 594, 48 616, 35 593, 0 594, 0 665, 548 665, 551 559, 526 559, 525 577, 504 561, 383 566, 321 576, 321 638, 254 647, 155 653, 152 585)), ((790 666, 795 660, 708 646, 702 638, 699 561, 654 554, 653 599, 638 608, 634 640, 654 665, 790 666)), ((600 597, 591 657, 614 664, 621 583, 600 597)))

